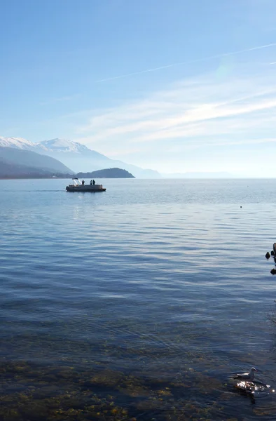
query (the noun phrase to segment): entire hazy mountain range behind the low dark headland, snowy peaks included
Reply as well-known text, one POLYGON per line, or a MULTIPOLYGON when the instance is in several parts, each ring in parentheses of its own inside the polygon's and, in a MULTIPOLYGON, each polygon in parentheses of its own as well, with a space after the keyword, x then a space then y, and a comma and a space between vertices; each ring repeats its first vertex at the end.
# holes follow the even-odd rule
POLYGON ((230 173, 167 173, 146 170, 138 166, 110 159, 85 145, 65 139, 30 142, 23 138, 0 136, 0 177, 51 175, 69 176, 92 173, 106 168, 120 168, 135 178, 233 178, 230 173), (14 174, 13 174, 14 168, 14 174))

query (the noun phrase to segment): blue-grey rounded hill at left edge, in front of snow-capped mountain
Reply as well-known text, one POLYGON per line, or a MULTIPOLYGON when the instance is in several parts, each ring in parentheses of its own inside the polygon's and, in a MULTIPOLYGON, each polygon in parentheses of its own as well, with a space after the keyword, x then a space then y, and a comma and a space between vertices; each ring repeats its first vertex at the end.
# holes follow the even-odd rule
POLYGON ((16 166, 25 166, 36 169, 37 173, 74 174, 73 171, 67 168, 67 166, 64 166, 60 161, 57 161, 57 159, 26 149, 0 147, 0 159, 9 165, 9 168, 12 168, 12 166, 14 168, 16 166))

